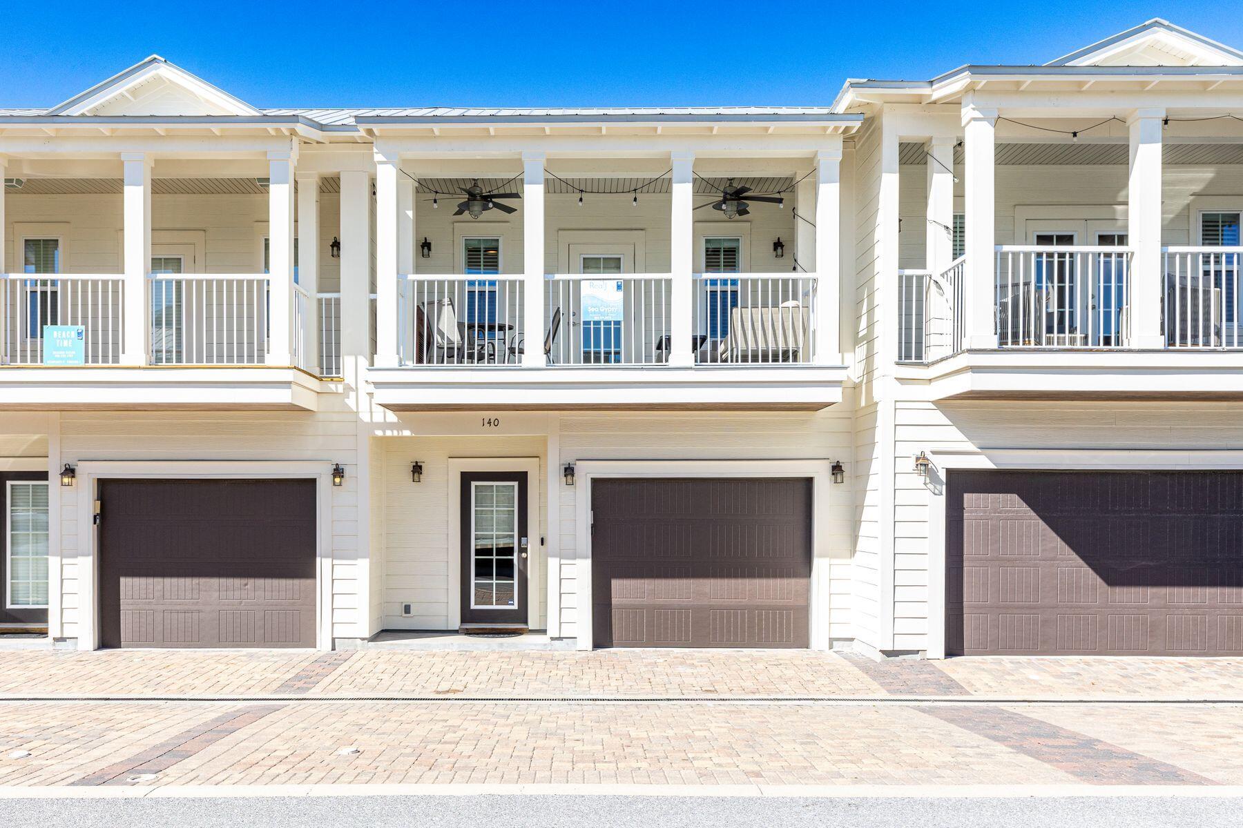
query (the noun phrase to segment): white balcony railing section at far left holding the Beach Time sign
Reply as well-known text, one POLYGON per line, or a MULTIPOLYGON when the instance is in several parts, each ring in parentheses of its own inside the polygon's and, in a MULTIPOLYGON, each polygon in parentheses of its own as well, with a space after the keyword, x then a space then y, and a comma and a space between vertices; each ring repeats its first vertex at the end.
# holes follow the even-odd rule
POLYGON ((0 274, 0 365, 53 361, 45 326, 81 325, 86 365, 116 365, 124 341, 124 278, 0 274))

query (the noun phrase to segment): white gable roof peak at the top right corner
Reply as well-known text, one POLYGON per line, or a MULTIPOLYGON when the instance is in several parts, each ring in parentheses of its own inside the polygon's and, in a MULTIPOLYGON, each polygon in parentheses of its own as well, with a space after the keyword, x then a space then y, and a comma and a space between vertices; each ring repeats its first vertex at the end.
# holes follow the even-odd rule
POLYGON ((1154 17, 1045 66, 1243 66, 1243 52, 1154 17))

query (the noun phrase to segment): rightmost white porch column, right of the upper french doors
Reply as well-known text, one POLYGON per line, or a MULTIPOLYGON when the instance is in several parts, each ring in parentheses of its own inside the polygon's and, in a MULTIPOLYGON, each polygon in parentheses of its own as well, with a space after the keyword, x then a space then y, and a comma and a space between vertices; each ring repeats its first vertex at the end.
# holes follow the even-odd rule
POLYGON ((1127 242, 1135 250, 1127 314, 1131 348, 1165 348, 1161 300, 1161 127, 1165 109, 1139 109, 1129 119, 1131 169, 1127 181, 1127 242))

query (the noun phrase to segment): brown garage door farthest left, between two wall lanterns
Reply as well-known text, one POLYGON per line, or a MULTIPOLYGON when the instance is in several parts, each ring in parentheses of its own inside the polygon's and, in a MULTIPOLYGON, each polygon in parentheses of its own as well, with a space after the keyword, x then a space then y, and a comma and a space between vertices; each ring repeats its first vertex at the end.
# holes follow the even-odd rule
POLYGON ((314 647, 313 480, 101 483, 104 647, 314 647))

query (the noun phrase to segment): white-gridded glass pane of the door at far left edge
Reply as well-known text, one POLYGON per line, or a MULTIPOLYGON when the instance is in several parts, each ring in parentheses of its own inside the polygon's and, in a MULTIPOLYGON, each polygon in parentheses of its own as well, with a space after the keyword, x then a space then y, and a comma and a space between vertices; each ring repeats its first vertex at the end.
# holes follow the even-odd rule
POLYGON ((47 484, 11 480, 5 515, 5 608, 47 606, 47 484))

